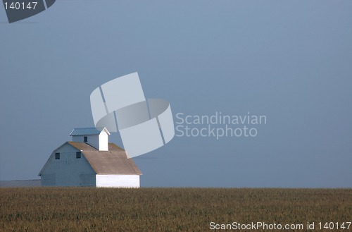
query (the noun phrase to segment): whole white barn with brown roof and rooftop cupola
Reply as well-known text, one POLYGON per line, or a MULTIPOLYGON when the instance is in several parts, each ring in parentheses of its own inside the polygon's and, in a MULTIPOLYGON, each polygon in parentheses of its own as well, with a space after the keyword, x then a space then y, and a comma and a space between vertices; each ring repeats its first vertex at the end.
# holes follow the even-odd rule
POLYGON ((39 172, 42 186, 139 188, 139 171, 106 128, 75 128, 72 142, 51 153, 39 172))

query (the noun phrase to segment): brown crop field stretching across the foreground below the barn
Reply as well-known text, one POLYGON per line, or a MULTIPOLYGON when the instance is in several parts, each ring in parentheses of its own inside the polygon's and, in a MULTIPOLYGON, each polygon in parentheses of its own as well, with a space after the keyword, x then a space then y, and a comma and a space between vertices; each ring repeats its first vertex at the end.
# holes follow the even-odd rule
POLYGON ((257 221, 352 231, 352 189, 0 188, 0 197, 0 231, 212 231, 211 222, 257 221))

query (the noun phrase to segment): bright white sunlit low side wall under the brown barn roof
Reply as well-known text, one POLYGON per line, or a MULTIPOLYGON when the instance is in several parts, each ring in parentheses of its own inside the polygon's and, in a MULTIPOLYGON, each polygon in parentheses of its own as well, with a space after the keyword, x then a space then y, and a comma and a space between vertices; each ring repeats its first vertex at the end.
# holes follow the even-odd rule
POLYGON ((96 175, 96 187, 139 188, 139 175, 96 175))

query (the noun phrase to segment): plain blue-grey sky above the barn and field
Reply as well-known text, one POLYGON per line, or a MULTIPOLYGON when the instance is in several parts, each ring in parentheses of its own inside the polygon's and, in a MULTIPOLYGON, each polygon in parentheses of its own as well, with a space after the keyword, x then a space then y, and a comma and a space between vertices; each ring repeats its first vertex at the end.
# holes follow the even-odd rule
MULTIPOLYGON (((351 1, 56 1, 0 7, 0 180, 32 179, 90 93, 137 71, 172 114, 267 116, 255 138, 175 137, 142 186, 352 187, 351 1)), ((121 145, 118 135, 111 142, 121 145)))

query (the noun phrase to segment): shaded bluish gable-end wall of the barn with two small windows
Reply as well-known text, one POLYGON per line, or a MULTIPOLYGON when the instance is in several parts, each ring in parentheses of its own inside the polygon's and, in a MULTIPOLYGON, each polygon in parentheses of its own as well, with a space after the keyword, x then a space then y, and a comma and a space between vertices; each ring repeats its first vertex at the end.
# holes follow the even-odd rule
POLYGON ((56 149, 42 171, 42 186, 94 186, 94 170, 83 154, 77 159, 76 152, 80 150, 69 144, 56 149), (60 159, 55 159, 56 152, 60 153, 60 159))

